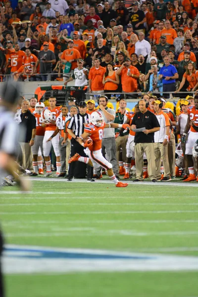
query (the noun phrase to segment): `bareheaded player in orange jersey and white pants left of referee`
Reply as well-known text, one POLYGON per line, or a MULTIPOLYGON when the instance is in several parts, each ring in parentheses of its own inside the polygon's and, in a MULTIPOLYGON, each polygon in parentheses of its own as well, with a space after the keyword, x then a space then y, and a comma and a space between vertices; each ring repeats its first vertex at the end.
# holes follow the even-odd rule
POLYGON ((52 174, 51 172, 51 159, 49 156, 51 146, 53 146, 53 150, 56 156, 56 175, 60 174, 60 152, 59 152, 59 134, 54 136, 51 141, 48 142, 49 138, 51 137, 52 133, 56 129, 56 118, 60 114, 61 106, 56 107, 56 99, 54 97, 49 98, 49 107, 48 109, 53 114, 53 121, 50 121, 49 124, 43 123, 42 126, 46 127, 46 132, 43 140, 43 149, 44 149, 44 158, 46 161, 46 176, 52 174))

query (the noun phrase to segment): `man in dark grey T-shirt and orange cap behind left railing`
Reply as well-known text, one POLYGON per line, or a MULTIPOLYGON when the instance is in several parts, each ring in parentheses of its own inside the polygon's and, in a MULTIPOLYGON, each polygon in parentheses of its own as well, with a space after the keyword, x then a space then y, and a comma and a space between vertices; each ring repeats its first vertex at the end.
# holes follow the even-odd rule
POLYGON ((52 72, 52 64, 55 63, 55 55, 49 50, 49 43, 44 42, 44 49, 39 52, 35 68, 40 64, 40 77, 42 81, 48 80, 47 73, 52 72))

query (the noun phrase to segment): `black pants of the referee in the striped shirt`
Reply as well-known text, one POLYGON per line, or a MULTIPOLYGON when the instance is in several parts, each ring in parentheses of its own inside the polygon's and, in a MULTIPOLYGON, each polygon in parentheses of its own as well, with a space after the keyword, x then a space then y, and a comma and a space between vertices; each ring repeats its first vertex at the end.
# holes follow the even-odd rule
MULTIPOLYGON (((75 153, 79 153, 82 157, 87 157, 87 155, 84 152, 84 149, 75 139, 71 139, 71 152, 70 157, 73 157, 75 153)), ((87 165, 82 162, 72 162, 69 164, 69 170, 68 170, 68 178, 85 178, 86 176, 86 168, 87 168, 87 177, 92 178, 93 177, 93 168, 90 165, 87 165)))

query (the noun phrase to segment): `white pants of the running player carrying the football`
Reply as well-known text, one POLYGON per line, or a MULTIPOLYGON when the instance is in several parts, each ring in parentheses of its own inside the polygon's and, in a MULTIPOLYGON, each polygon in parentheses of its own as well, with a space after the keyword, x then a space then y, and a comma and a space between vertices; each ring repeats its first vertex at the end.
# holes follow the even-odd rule
POLYGON ((89 148, 85 149, 85 153, 89 156, 92 160, 93 167, 103 167, 104 169, 108 170, 112 168, 112 164, 109 163, 102 155, 102 149, 91 151, 89 148))

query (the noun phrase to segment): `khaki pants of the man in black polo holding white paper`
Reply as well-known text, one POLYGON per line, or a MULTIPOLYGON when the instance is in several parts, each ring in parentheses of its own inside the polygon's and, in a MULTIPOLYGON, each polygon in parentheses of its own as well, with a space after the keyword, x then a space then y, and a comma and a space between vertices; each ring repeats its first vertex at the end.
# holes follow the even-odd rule
POLYGON ((150 180, 157 179, 155 170, 154 143, 136 144, 135 161, 136 161, 136 178, 143 180, 143 155, 147 155, 148 176, 150 180))

